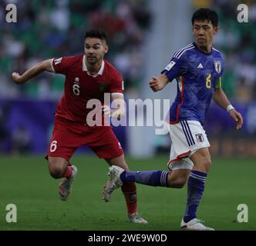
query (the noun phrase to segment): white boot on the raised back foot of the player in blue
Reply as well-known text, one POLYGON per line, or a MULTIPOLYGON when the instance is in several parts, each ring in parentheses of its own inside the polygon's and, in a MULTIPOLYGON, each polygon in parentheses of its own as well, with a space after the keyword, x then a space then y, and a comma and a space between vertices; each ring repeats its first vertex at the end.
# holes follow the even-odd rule
POLYGON ((123 184, 123 182, 120 179, 120 175, 121 173, 124 171, 123 168, 120 168, 118 166, 111 166, 109 168, 109 178, 106 181, 106 185, 104 187, 104 191, 103 191, 103 200, 104 201, 109 201, 111 198, 111 194, 112 192, 117 189, 120 188, 120 186, 123 184))

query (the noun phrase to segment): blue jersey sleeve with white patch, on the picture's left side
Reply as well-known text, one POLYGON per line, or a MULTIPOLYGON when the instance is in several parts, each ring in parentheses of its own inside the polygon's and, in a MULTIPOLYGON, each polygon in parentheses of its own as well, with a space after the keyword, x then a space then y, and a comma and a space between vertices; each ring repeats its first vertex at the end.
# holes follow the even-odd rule
POLYGON ((172 81, 174 78, 177 78, 179 75, 183 75, 187 72, 187 59, 186 59, 186 53, 175 56, 173 55, 173 58, 171 58, 170 63, 167 65, 166 68, 161 71, 161 74, 167 75, 167 78, 169 81, 172 81))

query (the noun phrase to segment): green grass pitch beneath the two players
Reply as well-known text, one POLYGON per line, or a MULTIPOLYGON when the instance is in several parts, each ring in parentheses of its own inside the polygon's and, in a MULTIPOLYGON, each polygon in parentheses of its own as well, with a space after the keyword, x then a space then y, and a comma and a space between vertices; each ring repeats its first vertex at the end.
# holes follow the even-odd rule
MULTIPOLYGON (((166 168, 168 156, 127 158, 131 170, 166 168)), ((0 230, 179 230, 187 187, 155 188, 137 184, 138 208, 149 224, 131 224, 120 190, 102 201, 107 165, 94 156, 77 156, 78 169, 72 195, 60 201, 59 180, 49 176, 42 156, 0 157, 0 230), (17 206, 17 223, 8 223, 7 204, 17 206)), ((213 158, 198 218, 216 230, 256 230, 256 161, 213 158), (237 222, 238 204, 248 205, 248 222, 237 222)))

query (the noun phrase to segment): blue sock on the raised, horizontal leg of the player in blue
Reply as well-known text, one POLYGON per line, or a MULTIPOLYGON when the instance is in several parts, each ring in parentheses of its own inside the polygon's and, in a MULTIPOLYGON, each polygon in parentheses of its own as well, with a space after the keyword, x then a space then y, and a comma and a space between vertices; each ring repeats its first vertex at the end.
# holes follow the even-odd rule
POLYGON ((168 187, 168 174, 168 171, 123 171, 120 178, 123 182, 168 187))

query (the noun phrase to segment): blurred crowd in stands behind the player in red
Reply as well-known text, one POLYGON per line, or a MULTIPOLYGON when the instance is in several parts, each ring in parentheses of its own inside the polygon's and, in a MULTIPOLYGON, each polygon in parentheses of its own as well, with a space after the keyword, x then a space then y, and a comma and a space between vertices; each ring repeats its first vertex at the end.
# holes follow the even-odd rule
MULTIPOLYGON (((0 9, 7 2, 1 2, 0 9)), ((45 58, 83 53, 84 32, 93 27, 107 32, 111 47, 107 59, 120 69, 126 88, 139 86, 140 45, 151 20, 147 0, 22 0, 15 5, 18 22, 0 23, 0 83, 5 88, 1 96, 59 98, 62 77, 42 75, 35 83, 16 87, 10 75, 45 58)))

